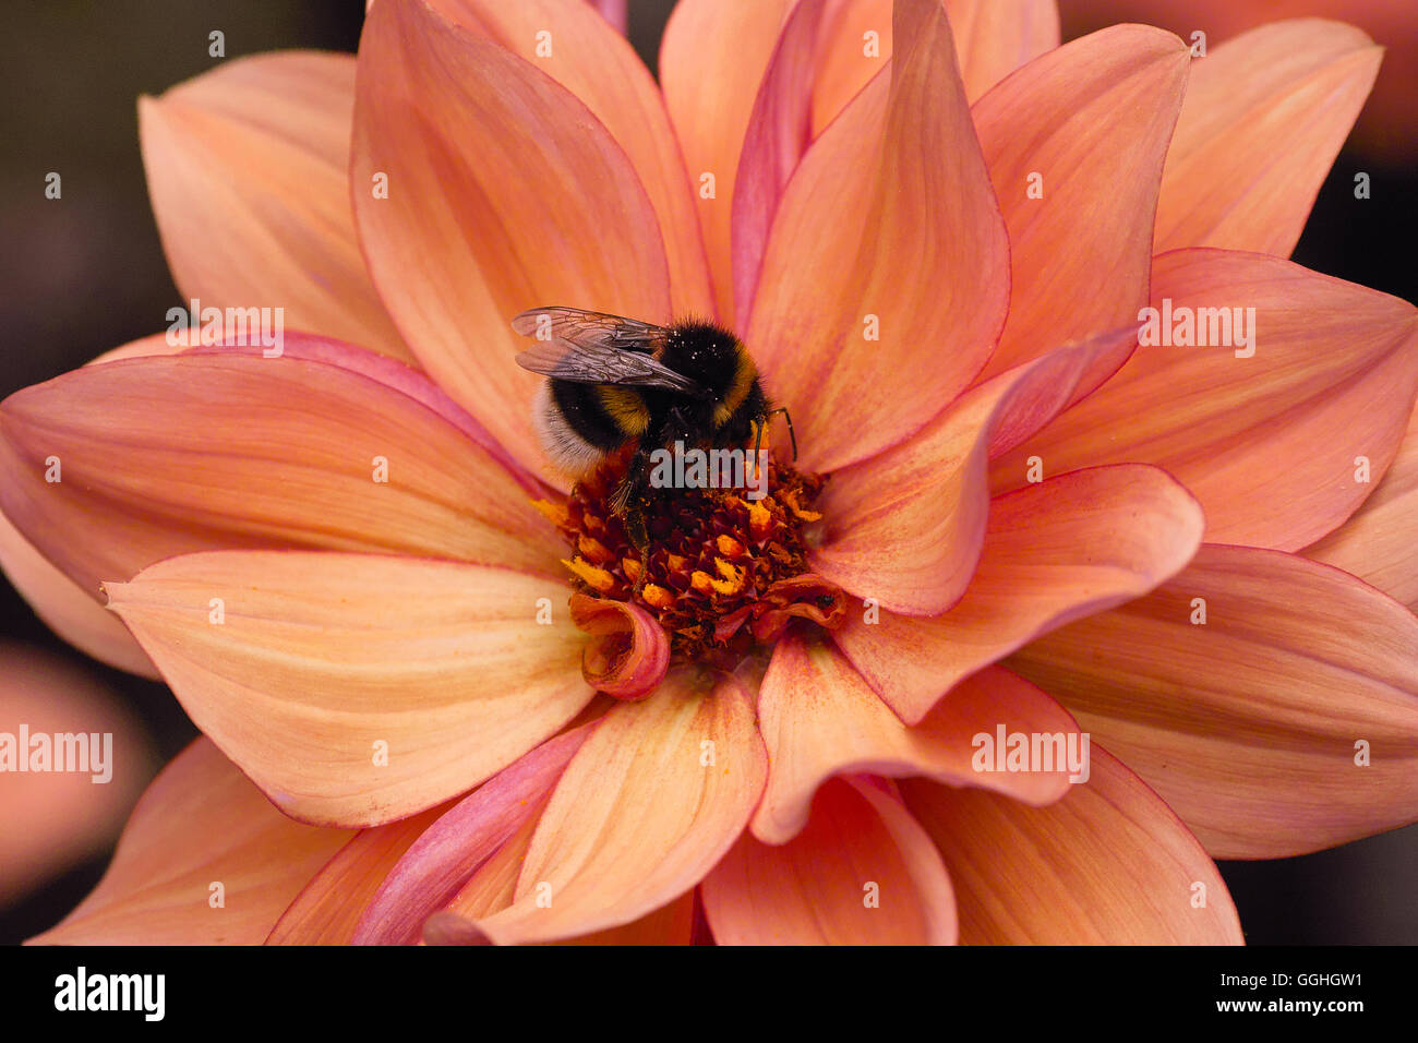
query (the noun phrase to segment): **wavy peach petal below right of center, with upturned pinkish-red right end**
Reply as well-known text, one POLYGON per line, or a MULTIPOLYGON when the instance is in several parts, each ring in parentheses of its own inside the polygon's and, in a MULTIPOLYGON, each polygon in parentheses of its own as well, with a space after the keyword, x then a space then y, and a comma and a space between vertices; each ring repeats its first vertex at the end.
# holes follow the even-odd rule
MULTIPOLYGON (((1068 771, 977 771, 974 738, 1076 732, 1054 700, 1005 670, 988 668, 950 698, 902 724, 841 651, 790 634, 778 641, 759 695, 759 728, 769 748, 769 788, 753 816, 753 834, 781 844, 807 826, 813 795, 834 775, 927 775, 954 786, 998 789, 1028 803, 1058 800, 1068 771)), ((1066 741, 1066 739, 1065 739, 1066 741)))

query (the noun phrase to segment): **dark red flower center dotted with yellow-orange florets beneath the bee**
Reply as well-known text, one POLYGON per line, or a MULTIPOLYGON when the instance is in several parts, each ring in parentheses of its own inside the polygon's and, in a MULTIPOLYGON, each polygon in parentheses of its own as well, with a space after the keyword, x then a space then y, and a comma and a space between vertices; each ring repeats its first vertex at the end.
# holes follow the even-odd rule
POLYGON ((671 663, 732 670, 793 619, 838 626, 845 595, 808 572, 804 539, 821 518, 811 505, 824 480, 764 456, 766 482, 652 490, 641 508, 645 548, 611 507, 630 450, 608 457, 564 508, 543 505, 571 546, 563 563, 573 585, 591 599, 648 613, 668 637, 671 663))

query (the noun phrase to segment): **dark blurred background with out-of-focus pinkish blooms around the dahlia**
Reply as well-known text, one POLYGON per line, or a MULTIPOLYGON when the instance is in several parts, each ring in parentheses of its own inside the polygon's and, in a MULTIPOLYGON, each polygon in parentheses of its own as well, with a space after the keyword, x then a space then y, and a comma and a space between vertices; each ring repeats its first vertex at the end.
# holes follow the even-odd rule
MULTIPOLYGON (((515 3, 516 0, 506 0, 515 3)), ((654 68, 672 0, 630 0, 654 68)), ((1374 98, 1330 175, 1295 260, 1418 299, 1418 0, 1059 0, 1064 38, 1149 21, 1208 44, 1263 21, 1329 14, 1388 48, 1374 98), (1353 197, 1367 172, 1373 199, 1353 197)), ((354 51, 363 0, 11 0, 0 40, 0 397, 159 332, 183 304, 147 206, 136 99, 225 57, 354 51), (48 172, 62 200, 44 197, 48 172)), ((64 917, 98 883, 157 768, 196 729, 159 683, 69 649, 0 579, 0 731, 111 731, 106 786, 0 775, 0 944, 64 917)), ((1222 863, 1251 944, 1418 944, 1418 827, 1332 851, 1222 863)))

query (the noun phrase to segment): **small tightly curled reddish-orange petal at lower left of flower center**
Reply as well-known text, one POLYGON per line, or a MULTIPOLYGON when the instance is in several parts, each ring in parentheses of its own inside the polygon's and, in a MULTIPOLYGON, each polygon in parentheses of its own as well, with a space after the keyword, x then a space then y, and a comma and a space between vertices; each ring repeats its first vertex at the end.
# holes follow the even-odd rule
POLYGON ((669 637, 638 605, 576 593, 571 622, 591 634, 581 654, 581 677, 596 691, 634 702, 665 680, 669 637))

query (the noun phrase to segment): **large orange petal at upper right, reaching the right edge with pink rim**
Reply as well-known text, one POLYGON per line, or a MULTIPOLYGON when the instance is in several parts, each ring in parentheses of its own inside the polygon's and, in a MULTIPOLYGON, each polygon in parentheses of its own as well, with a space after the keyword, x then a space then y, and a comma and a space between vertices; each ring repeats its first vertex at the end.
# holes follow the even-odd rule
POLYGON ((1374 488, 1356 468, 1381 477, 1412 413, 1418 311, 1225 250, 1156 258, 1151 307, 1127 365, 1000 461, 995 490, 1024 482, 1025 456, 1046 474, 1157 464, 1201 501, 1208 542, 1282 551, 1353 514, 1374 488))

